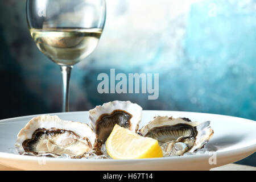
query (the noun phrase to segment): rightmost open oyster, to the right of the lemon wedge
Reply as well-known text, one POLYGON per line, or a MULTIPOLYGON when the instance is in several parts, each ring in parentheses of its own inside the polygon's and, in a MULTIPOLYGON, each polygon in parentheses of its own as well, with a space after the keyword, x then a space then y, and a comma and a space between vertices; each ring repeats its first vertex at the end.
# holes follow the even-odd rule
POLYGON ((188 118, 155 117, 139 131, 143 137, 158 140, 164 156, 178 156, 204 147, 213 135, 210 122, 192 122, 188 118))

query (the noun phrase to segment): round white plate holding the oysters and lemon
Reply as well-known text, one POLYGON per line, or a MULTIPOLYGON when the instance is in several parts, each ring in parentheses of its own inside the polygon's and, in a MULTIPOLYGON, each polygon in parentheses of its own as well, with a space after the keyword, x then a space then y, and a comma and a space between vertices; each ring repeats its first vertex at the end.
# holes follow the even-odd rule
MULTIPOLYGON (((61 119, 89 123, 88 111, 55 114, 61 119)), ((10 148, 14 148, 16 134, 35 117, 30 115, 0 121, 0 164, 26 170, 208 170, 236 162, 256 151, 255 121, 207 113, 144 110, 140 127, 156 115, 186 117, 199 122, 211 121, 214 135, 207 149, 214 152, 136 160, 54 159, 11 154, 10 148)))

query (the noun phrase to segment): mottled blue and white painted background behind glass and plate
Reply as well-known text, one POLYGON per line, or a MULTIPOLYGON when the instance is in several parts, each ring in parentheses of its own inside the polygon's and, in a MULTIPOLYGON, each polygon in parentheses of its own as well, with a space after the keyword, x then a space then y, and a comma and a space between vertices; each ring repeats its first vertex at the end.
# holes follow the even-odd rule
MULTIPOLYGON (((197 111, 256 120, 256 1, 106 0, 95 51, 75 65, 71 111, 113 100, 143 109, 197 111), (99 94, 100 73, 159 73, 159 98, 99 94)), ((26 1, 0 1, 0 119, 61 111, 57 65, 35 46, 26 1)), ((256 156, 241 160, 256 166, 256 156)))

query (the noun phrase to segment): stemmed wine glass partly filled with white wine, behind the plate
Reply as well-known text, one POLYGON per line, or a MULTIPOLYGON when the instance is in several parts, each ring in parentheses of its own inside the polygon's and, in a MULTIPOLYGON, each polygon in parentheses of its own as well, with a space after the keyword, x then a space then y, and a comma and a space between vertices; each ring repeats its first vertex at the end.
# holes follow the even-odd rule
POLYGON ((105 0, 27 0, 26 10, 36 46, 60 66, 63 112, 67 112, 71 70, 98 44, 106 19, 105 0))

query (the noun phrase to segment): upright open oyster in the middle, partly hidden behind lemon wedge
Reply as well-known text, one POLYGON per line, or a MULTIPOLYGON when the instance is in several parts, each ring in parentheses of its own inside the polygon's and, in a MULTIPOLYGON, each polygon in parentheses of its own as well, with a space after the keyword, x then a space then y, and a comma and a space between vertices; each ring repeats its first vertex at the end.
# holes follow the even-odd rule
POLYGON ((137 132, 142 117, 142 107, 130 101, 113 101, 89 110, 90 125, 96 133, 94 148, 100 151, 115 124, 137 132))

